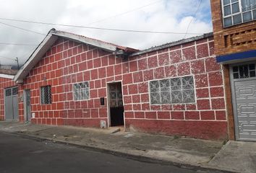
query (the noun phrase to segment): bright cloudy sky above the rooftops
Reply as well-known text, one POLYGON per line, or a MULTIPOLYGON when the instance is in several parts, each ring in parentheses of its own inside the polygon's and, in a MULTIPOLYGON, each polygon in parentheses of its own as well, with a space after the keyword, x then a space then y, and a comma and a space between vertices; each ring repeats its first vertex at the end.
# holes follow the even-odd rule
POLYGON ((22 66, 51 28, 140 50, 213 30, 210 0, 0 0, 0 4, 1 65, 15 65, 18 58, 22 66), (9 19, 182 34, 118 32, 9 19))

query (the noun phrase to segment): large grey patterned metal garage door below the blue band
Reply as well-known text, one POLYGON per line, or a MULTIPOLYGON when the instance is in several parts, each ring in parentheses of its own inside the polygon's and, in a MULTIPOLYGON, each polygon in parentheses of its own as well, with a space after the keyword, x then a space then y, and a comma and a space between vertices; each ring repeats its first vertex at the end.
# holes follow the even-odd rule
POLYGON ((255 63, 233 66, 232 73, 236 139, 256 141, 255 63))

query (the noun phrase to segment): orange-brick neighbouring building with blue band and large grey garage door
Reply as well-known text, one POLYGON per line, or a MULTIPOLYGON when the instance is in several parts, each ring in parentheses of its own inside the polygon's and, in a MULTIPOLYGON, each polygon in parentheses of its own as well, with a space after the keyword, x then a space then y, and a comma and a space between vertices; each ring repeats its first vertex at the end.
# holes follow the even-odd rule
POLYGON ((223 64, 229 138, 256 141, 256 0, 211 0, 211 8, 216 59, 223 64))

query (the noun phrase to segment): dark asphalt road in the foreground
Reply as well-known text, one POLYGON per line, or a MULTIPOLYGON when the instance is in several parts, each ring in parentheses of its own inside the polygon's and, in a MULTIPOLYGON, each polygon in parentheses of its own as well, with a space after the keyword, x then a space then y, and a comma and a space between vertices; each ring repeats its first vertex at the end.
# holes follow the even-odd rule
POLYGON ((51 141, 35 141, 0 132, 0 172, 190 173, 211 171, 184 169, 173 165, 136 161, 75 146, 52 143, 51 141))

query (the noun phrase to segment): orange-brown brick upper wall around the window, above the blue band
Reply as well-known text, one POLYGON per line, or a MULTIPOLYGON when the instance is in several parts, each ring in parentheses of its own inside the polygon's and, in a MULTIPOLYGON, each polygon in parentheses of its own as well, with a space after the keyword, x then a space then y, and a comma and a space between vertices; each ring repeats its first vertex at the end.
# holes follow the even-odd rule
POLYGON ((221 0, 211 0, 216 56, 256 49, 256 22, 223 28, 221 0))

